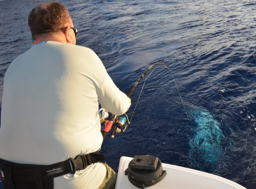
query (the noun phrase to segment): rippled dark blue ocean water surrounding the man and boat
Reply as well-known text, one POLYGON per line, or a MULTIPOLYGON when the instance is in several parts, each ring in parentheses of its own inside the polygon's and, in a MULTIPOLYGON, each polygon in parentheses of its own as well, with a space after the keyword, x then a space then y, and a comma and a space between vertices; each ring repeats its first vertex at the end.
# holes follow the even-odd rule
MULTIPOLYGON (((0 1, 1 97, 7 67, 32 45, 27 17, 41 2, 0 1)), ((150 65, 164 62, 191 115, 168 69, 155 69, 131 126, 103 143, 114 170, 120 156, 151 154, 256 188, 255 1, 59 2, 79 30, 77 44, 97 53, 121 90, 129 91, 150 65)))

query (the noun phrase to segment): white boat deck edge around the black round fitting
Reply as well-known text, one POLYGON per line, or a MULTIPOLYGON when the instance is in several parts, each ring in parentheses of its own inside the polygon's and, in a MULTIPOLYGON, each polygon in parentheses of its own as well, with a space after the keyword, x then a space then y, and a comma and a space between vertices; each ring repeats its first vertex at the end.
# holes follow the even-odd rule
MULTIPOLYGON (((116 189, 138 188, 129 181, 126 175, 124 175, 124 171, 127 169, 128 164, 132 159, 133 158, 131 157, 121 157, 115 187, 116 189)), ((233 181, 202 171, 165 163, 162 163, 162 166, 163 170, 167 172, 167 176, 159 183, 146 187, 146 189, 246 189, 233 181)))

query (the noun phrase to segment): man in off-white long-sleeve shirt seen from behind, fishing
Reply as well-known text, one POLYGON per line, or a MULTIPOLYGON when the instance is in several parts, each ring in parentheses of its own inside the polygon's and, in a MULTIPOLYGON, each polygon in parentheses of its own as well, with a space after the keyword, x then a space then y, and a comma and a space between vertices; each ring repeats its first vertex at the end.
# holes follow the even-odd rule
POLYGON ((10 64, 4 79, 0 158, 5 182, 33 189, 53 188, 52 181, 54 189, 114 188, 116 175, 106 164, 96 161, 75 172, 75 161, 68 159, 100 149, 99 104, 120 115, 130 99, 92 50, 75 45, 77 30, 63 5, 35 7, 29 27, 34 45, 10 64), (75 173, 62 175, 68 167, 75 173), (27 179, 30 173, 35 180, 27 179))

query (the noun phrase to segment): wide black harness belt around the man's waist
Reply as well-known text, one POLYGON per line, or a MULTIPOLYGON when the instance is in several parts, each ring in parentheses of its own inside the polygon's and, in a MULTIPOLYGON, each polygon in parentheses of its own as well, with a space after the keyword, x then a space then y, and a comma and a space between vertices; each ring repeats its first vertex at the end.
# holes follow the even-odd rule
POLYGON ((105 163, 105 157, 98 152, 78 155, 66 161, 48 166, 20 164, 0 159, 5 189, 53 189, 53 178, 86 169, 92 163, 105 163))

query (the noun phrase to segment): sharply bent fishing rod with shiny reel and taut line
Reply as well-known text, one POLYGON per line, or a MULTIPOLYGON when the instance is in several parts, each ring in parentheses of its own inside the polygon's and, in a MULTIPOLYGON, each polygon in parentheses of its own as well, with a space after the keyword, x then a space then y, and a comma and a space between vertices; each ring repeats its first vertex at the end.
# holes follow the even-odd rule
MULTIPOLYGON (((140 95, 139 95, 139 98, 138 98, 138 100, 137 100, 137 102, 136 102, 136 105, 135 105, 135 108, 134 108, 132 117, 133 117, 133 115, 134 115, 135 109, 136 109, 136 107, 137 107, 138 101, 139 101, 140 96, 141 96, 141 92, 142 92, 142 90, 143 90, 143 87, 144 87, 144 85, 145 85, 145 82, 146 82, 147 78, 153 73, 153 71, 154 71, 157 67, 160 67, 160 66, 166 67, 166 68, 170 71, 170 73, 172 73, 172 76, 173 76, 173 78, 174 78, 174 75, 173 75, 173 72, 172 72, 172 68, 170 68, 166 63, 163 63, 163 62, 156 62, 156 63, 154 63, 153 65, 151 65, 150 67, 148 67, 148 68, 146 69, 146 71, 145 71, 145 72, 139 77, 139 79, 135 82, 135 84, 132 86, 132 88, 129 90, 129 92, 127 92, 127 97, 130 98, 131 95, 132 95, 132 93, 133 93, 133 91, 134 91, 134 89, 135 89, 135 88, 137 87, 137 85, 139 84, 139 82, 140 82, 145 76, 147 76, 146 79, 145 79, 145 81, 144 81, 144 84, 143 84, 143 86, 142 86, 142 89, 141 89, 141 91, 140 91, 140 95), (152 70, 152 69, 153 69, 153 70, 152 70), (150 70, 152 70, 152 72, 151 72, 150 74, 148 74, 148 73, 150 72, 150 70)), ((175 81, 175 78, 174 78, 174 81, 175 81)), ((176 81, 175 81, 175 84, 176 84, 176 87, 177 87, 178 92, 179 92, 179 88, 178 88, 178 85, 177 85, 176 81)), ((179 92, 179 95, 180 95, 180 92, 179 92)), ((181 99, 182 104, 183 104, 183 107, 184 107, 184 109, 185 109, 185 111, 186 111, 186 108, 185 108, 185 106, 184 106, 184 103, 183 103, 183 100, 182 100, 182 98, 181 98, 181 95, 180 95, 180 99, 181 99)), ((187 114, 187 111, 186 111, 186 114, 187 114)), ((188 114, 187 114, 187 116, 188 116, 188 114)), ((132 121, 132 117, 131 117, 131 121, 132 121)), ((111 138, 114 138, 117 133, 124 132, 124 131, 126 130, 126 128, 130 125, 131 121, 129 121, 129 118, 128 118, 128 116, 127 116, 125 113, 122 114, 122 115, 119 115, 119 116, 113 114, 113 115, 111 116, 111 119, 110 119, 110 120, 101 120, 101 122, 104 123, 104 127, 103 127, 103 129, 102 129, 102 131, 101 131, 103 138, 105 138, 106 134, 107 134, 110 130, 111 130, 111 138), (114 125, 113 125, 113 124, 114 124, 114 125)))

